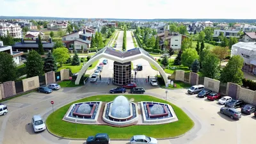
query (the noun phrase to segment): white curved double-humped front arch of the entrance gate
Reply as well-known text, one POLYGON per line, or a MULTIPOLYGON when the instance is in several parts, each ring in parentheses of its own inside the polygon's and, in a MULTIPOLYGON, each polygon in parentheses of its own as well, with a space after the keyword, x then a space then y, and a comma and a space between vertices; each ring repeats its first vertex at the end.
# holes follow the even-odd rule
POLYGON ((152 63, 157 70, 159 70, 160 74, 163 76, 164 79, 164 83, 168 82, 168 78, 163 70, 163 68, 152 58, 150 58, 149 56, 143 54, 142 52, 140 54, 136 54, 134 56, 129 56, 127 58, 118 58, 116 56, 111 56, 110 54, 106 54, 104 52, 97 54, 97 56, 93 56, 87 63, 85 63, 85 65, 83 66, 83 68, 80 70, 77 78, 76 78, 76 84, 79 84, 81 77, 83 76, 84 72, 86 71, 86 69, 92 65, 92 63, 94 61, 100 60, 100 58, 107 58, 109 60, 113 60, 113 61, 117 61, 119 63, 126 63, 129 61, 134 61, 134 60, 138 60, 140 58, 147 60, 149 63, 152 63))

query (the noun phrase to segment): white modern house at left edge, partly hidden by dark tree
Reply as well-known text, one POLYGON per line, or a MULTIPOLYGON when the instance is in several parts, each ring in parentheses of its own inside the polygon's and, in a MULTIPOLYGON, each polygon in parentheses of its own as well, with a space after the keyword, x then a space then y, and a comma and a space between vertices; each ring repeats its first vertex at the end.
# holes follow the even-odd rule
POLYGON ((23 52, 12 51, 12 46, 6 46, 2 41, 0 41, 0 52, 7 52, 8 54, 11 54, 16 65, 19 65, 19 63, 22 61, 21 56, 23 55, 23 52))

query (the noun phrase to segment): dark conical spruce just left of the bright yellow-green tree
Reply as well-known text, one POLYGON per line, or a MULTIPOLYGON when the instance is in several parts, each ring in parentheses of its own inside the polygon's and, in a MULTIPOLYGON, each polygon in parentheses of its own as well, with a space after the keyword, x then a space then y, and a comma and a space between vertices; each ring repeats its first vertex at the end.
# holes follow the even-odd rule
POLYGON ((51 52, 49 51, 47 53, 47 57, 44 59, 44 72, 51 72, 57 70, 57 64, 52 56, 51 52))

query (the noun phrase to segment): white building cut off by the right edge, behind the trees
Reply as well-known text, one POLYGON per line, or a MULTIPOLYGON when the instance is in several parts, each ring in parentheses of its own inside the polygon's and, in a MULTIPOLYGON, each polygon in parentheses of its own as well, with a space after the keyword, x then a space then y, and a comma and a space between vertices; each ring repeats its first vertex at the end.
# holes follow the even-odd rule
POLYGON ((231 56, 244 59, 243 71, 256 76, 256 42, 238 42, 232 45, 231 56))

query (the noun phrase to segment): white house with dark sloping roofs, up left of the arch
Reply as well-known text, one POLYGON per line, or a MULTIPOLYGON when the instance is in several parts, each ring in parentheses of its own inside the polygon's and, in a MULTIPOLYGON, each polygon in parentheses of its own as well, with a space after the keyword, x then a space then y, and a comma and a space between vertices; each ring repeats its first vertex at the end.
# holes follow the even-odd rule
POLYGON ((61 36, 63 44, 68 49, 88 49, 91 44, 92 35, 95 33, 94 29, 86 28, 82 31, 70 33, 69 35, 61 36))

